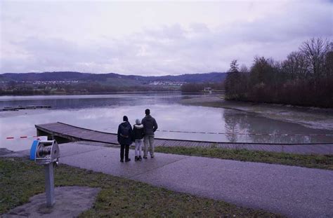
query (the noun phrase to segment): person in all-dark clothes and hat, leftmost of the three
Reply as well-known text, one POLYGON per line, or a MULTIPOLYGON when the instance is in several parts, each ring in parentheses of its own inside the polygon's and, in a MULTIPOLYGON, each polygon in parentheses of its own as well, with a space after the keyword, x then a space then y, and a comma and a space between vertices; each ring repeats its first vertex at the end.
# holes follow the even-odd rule
POLYGON ((120 144, 120 162, 124 162, 124 150, 125 150, 125 162, 131 161, 129 158, 129 145, 132 144, 132 127, 129 123, 129 118, 124 116, 122 118, 123 123, 118 127, 118 142, 120 144))

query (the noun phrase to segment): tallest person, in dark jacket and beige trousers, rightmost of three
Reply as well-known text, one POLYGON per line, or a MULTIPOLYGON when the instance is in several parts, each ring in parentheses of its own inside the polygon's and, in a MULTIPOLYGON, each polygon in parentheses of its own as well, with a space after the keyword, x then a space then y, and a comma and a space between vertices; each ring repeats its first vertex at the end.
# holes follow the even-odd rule
POLYGON ((157 130, 157 122, 155 118, 150 116, 150 109, 145 109, 145 117, 142 119, 143 129, 145 132, 145 137, 143 138, 143 144, 145 145, 145 150, 143 152, 143 158, 148 156, 148 146, 150 157, 154 158, 154 137, 155 131, 157 130))

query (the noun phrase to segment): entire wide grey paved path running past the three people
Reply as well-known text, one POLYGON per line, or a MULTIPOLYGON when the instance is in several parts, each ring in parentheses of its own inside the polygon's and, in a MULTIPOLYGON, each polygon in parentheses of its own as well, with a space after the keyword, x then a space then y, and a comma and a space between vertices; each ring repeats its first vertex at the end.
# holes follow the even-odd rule
POLYGON ((288 217, 333 217, 333 171, 174 154, 119 162, 119 149, 60 144, 60 163, 288 217))

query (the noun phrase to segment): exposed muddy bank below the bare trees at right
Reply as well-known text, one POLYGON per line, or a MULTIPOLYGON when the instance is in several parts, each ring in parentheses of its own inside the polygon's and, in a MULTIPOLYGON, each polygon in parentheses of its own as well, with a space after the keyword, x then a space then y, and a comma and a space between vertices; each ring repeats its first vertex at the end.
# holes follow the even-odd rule
POLYGON ((333 109, 318 107, 298 107, 283 104, 237 102, 224 100, 218 96, 192 97, 180 101, 181 104, 203 107, 221 107, 256 113, 278 121, 298 123, 307 128, 333 130, 333 109))

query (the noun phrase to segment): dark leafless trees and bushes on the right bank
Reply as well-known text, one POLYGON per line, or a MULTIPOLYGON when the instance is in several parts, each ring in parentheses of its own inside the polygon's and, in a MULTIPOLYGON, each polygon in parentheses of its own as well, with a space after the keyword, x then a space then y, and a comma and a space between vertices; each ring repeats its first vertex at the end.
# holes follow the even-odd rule
POLYGON ((333 107, 333 43, 313 38, 286 60, 254 57, 248 69, 230 63, 226 99, 313 107, 333 107))

